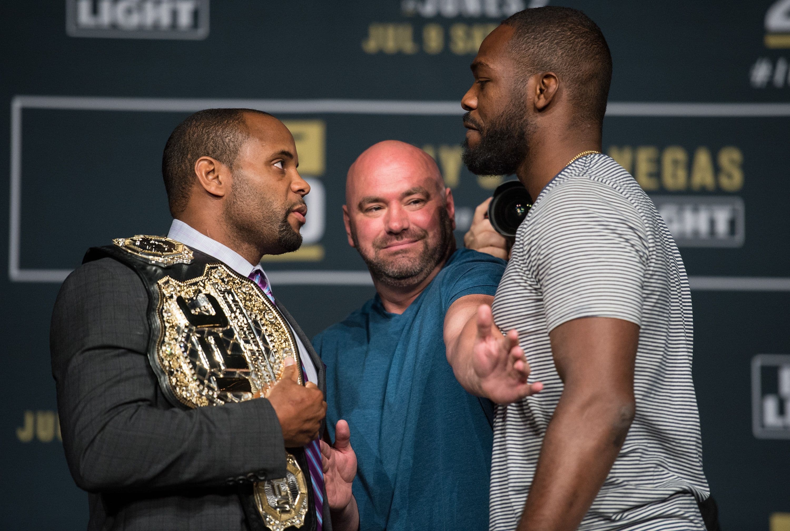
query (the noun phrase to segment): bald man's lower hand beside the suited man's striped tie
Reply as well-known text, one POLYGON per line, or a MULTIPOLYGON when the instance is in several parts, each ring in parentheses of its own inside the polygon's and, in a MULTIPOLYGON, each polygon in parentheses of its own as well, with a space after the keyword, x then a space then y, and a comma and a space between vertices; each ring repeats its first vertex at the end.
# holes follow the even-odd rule
POLYGON ((335 426, 335 443, 321 441, 326 499, 332 510, 343 510, 352 500, 352 482, 356 476, 356 454, 351 447, 351 430, 345 420, 335 426))

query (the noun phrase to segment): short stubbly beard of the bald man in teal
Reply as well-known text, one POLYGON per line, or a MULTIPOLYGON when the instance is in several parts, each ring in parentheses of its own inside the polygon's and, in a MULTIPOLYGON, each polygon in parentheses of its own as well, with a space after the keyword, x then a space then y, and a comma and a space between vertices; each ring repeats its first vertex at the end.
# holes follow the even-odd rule
POLYGON ((372 256, 367 256, 363 253, 363 250, 359 247, 359 240, 356 239, 356 233, 353 230, 351 237, 356 250, 359 251, 359 256, 367 264, 367 269, 371 271, 371 277, 390 288, 406 288, 424 281, 435 269, 436 265, 449 257, 455 250, 453 222, 450 220, 450 215, 447 213, 446 208, 439 209, 439 227, 441 231, 439 239, 433 247, 429 247, 427 231, 409 228, 408 231, 401 232, 401 234, 390 238, 387 242, 380 241, 378 238, 374 240, 372 256), (414 236, 419 237, 423 243, 423 251, 411 262, 402 263, 398 258, 386 261, 376 256, 377 250, 382 249, 389 241, 393 239, 408 239, 414 236))

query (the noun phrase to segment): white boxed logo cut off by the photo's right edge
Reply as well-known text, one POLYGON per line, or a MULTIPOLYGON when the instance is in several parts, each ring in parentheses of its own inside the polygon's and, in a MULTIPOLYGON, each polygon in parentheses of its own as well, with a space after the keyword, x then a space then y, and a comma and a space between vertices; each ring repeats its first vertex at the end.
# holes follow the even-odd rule
POLYGON ((751 361, 752 430, 758 439, 790 439, 790 355, 751 361))

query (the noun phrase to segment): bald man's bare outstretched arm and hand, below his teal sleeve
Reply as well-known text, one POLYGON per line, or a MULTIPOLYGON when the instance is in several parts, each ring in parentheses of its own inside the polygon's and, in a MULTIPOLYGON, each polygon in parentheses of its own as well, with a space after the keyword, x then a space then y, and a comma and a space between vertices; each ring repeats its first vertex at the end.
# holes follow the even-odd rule
POLYGON ((543 386, 530 384, 529 364, 518 346, 518 333, 502 335, 491 317, 490 295, 457 299, 445 315, 447 361, 458 382, 469 393, 498 404, 521 400, 543 386))

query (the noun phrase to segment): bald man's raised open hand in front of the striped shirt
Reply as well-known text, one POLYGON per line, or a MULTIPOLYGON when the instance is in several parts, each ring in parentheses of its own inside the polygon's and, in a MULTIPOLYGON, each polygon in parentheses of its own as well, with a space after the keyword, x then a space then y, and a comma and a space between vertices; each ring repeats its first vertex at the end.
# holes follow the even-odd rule
POLYGON ((494 326, 491 307, 477 308, 477 337, 473 347, 472 369, 479 378, 483 396, 497 404, 510 404, 543 389, 543 384, 530 384, 529 363, 518 346, 517 330, 504 336, 494 326))

